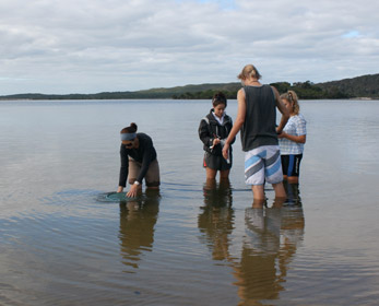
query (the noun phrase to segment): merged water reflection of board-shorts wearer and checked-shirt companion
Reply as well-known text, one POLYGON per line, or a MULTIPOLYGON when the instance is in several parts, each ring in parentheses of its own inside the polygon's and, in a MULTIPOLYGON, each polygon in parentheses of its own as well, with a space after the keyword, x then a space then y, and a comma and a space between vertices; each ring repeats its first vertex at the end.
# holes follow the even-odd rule
POLYGON ((247 239, 234 266, 240 305, 262 305, 284 290, 288 263, 304 236, 300 205, 249 208, 245 213, 247 239))

